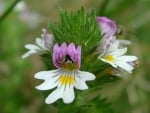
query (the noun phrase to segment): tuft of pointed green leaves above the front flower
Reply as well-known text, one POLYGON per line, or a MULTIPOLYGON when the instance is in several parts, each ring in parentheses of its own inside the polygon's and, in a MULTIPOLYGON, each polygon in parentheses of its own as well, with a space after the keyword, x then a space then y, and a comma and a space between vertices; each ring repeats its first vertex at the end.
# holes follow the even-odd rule
POLYGON ((82 7, 77 12, 60 9, 60 23, 50 23, 58 44, 63 42, 81 45, 83 57, 93 52, 101 39, 100 29, 95 20, 95 11, 86 13, 82 7))

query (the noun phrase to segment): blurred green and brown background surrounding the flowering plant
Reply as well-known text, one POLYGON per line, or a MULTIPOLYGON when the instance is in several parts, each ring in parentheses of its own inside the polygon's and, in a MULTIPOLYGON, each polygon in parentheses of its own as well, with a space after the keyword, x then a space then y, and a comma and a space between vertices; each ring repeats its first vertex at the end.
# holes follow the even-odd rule
POLYGON ((21 55, 49 21, 59 20, 59 7, 75 11, 81 6, 121 25, 123 38, 133 43, 129 53, 139 57, 132 75, 105 84, 101 94, 118 113, 150 113, 150 0, 0 0, 0 113, 57 113, 35 89, 33 75, 44 69, 41 59, 21 55))

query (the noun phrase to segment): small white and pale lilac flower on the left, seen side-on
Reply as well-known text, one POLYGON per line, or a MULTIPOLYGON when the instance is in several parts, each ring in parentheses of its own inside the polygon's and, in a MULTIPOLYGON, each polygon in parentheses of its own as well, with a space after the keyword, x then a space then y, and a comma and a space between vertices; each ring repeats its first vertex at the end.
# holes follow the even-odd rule
POLYGON ((27 58, 34 54, 43 54, 46 51, 49 51, 53 45, 53 35, 48 34, 46 29, 42 29, 43 33, 41 38, 36 38, 36 44, 26 44, 25 48, 28 49, 22 58, 27 58))

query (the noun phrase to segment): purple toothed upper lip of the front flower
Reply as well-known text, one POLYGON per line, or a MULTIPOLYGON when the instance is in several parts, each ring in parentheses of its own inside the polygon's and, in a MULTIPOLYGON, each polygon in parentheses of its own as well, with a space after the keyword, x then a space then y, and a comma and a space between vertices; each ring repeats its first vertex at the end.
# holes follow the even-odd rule
POLYGON ((75 48, 74 43, 70 43, 67 46, 65 42, 60 47, 58 44, 55 44, 53 48, 53 63, 57 68, 79 69, 81 64, 81 46, 75 48), (70 64, 73 67, 70 67, 70 64))

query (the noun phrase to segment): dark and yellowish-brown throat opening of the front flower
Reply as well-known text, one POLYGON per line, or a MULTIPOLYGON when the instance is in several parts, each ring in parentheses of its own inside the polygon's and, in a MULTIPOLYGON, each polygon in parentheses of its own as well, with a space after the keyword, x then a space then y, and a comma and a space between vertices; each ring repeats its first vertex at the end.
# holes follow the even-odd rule
POLYGON ((73 71, 78 69, 78 64, 74 62, 69 55, 66 55, 63 63, 63 68, 68 71, 73 71))

